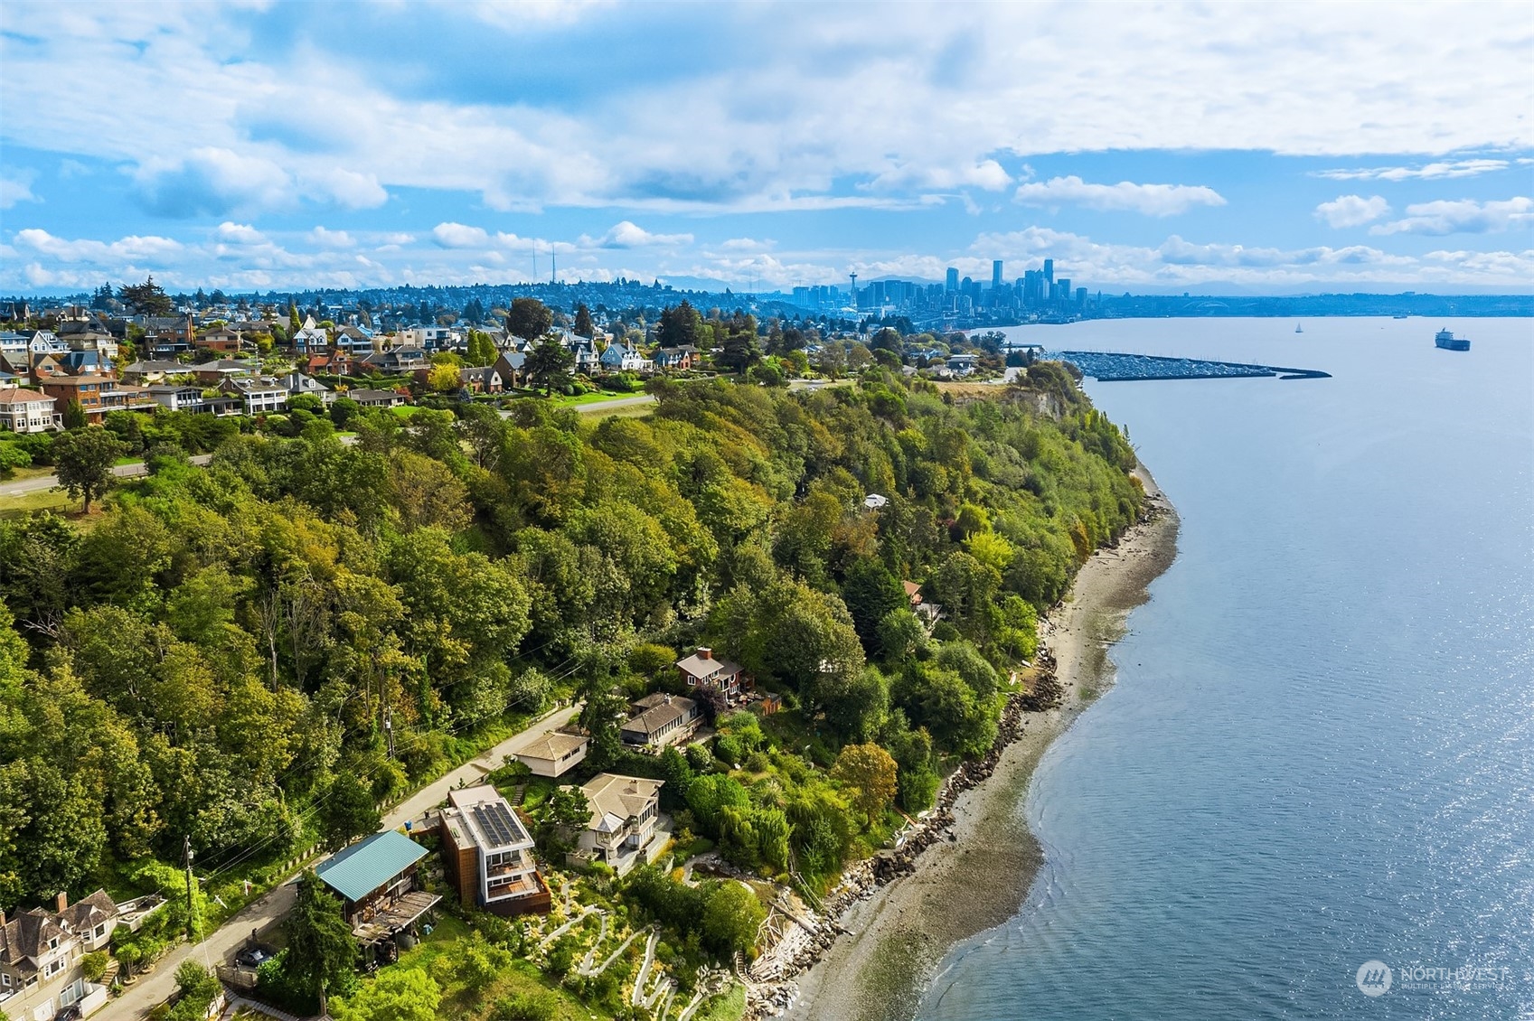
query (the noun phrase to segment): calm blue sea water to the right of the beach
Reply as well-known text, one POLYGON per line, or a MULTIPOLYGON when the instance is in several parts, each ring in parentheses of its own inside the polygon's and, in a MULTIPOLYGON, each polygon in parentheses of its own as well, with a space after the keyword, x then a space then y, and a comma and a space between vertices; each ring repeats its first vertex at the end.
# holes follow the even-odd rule
POLYGON ((1534 320, 1293 328, 1012 331, 1333 379, 1088 380, 1178 558, 1019 805, 1023 909, 923 1021, 1534 1016, 1534 320))

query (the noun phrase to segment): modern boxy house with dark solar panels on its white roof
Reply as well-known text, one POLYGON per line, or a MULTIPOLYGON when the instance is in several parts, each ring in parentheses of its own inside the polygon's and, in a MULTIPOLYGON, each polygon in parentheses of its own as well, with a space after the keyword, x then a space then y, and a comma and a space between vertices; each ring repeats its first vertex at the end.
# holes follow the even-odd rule
POLYGON ((442 871, 460 904, 502 917, 549 911, 532 837, 494 786, 448 791, 440 832, 442 871))

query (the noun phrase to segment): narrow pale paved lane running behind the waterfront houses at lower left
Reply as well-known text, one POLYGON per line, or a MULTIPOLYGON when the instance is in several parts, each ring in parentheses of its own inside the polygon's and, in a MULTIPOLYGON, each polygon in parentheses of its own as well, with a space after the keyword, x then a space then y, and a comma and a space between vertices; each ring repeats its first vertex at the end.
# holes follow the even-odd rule
MULTIPOLYGON (((459 767, 436 783, 428 783, 391 811, 385 813, 384 826, 387 829, 394 829, 402 826, 407 819, 417 819, 428 808, 436 808, 440 802, 446 800, 448 791, 457 786, 459 780, 472 783, 491 770, 499 768, 505 756, 512 754, 526 742, 540 737, 551 730, 563 727, 572 716, 575 716, 575 711, 577 707, 554 710, 526 730, 500 742, 479 759, 459 767)), ((141 977, 121 996, 107 1001, 98 1013, 91 1016, 104 1018, 107 1021, 144 1018, 150 1010, 167 1001, 175 993, 176 967, 181 966, 181 961, 193 960, 204 966, 225 963, 250 937, 252 929, 265 929, 288 912, 293 906, 295 885, 296 877, 282 883, 261 900, 252 901, 233 918, 225 921, 222 927, 216 929, 212 935, 202 940, 202 943, 198 943, 196 946, 178 946, 170 954, 160 958, 153 972, 141 977)))

